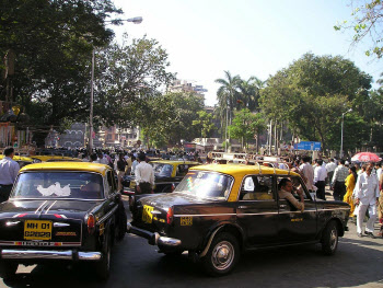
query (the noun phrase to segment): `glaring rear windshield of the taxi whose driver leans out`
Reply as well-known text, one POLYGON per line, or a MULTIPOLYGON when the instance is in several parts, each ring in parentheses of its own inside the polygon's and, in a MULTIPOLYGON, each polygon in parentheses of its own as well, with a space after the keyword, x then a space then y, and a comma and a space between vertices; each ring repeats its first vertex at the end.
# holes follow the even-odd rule
POLYGON ((230 193, 233 178, 206 171, 190 171, 177 185, 174 192, 186 193, 199 198, 223 200, 230 193))

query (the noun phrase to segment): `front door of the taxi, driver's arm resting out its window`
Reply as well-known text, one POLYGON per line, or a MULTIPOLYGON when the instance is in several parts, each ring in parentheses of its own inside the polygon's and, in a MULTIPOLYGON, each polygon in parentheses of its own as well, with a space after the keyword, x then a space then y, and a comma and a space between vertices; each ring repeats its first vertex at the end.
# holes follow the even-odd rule
MULTIPOLYGON (((277 183, 282 176, 277 177, 277 183)), ((304 193, 304 210, 299 211, 287 199, 278 198, 279 208, 279 239, 283 243, 309 242, 315 239, 317 231, 316 204, 311 198, 301 177, 291 176, 295 188, 302 188, 304 193)), ((298 197, 298 196, 297 196, 298 197)))

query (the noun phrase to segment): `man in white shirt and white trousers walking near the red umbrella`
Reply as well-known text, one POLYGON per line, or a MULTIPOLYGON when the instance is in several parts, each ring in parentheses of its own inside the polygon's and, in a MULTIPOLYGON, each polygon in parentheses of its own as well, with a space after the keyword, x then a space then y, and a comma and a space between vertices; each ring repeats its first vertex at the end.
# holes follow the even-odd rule
POLYGON ((367 209, 369 209, 370 219, 368 220, 364 229, 364 234, 375 238, 373 234, 373 226, 376 220, 376 201, 379 200, 379 183, 375 174, 372 174, 372 168, 367 166, 357 181, 355 187, 357 200, 356 205, 359 206, 357 215, 357 232, 358 237, 362 237, 362 226, 367 209))

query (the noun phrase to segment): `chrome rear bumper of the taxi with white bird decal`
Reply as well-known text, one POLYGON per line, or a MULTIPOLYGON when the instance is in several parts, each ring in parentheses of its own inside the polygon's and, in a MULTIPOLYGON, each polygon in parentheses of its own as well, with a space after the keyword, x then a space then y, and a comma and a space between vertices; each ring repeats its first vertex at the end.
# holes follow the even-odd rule
POLYGON ((79 252, 72 250, 24 250, 3 249, 3 260, 70 260, 70 261, 100 261, 101 252, 79 252))

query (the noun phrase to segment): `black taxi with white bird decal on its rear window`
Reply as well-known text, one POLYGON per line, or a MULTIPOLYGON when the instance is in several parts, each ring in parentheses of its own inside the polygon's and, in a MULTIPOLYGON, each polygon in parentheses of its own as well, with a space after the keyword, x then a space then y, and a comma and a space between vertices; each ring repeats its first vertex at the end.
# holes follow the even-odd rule
POLYGON ((18 265, 89 262, 108 277, 111 246, 126 234, 114 171, 86 162, 36 163, 20 170, 0 204, 0 277, 18 265))

